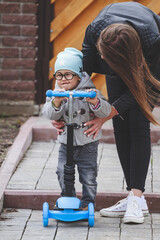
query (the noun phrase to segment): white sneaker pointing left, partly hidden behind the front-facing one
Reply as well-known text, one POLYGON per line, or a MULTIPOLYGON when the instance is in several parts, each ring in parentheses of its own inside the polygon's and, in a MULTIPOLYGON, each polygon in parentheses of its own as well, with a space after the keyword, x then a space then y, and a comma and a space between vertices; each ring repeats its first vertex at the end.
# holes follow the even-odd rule
MULTIPOLYGON (((142 199, 142 212, 144 216, 148 215, 148 206, 144 196, 142 199)), ((103 208, 100 210, 100 214, 104 217, 123 217, 127 209, 128 197, 120 200, 115 205, 109 208, 103 208)))

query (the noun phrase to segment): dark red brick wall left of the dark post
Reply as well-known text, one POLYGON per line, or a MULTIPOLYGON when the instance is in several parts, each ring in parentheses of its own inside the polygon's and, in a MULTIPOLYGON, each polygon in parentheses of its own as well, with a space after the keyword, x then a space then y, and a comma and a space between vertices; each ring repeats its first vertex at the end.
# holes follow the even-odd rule
POLYGON ((0 114, 33 114, 38 0, 0 0, 0 114))

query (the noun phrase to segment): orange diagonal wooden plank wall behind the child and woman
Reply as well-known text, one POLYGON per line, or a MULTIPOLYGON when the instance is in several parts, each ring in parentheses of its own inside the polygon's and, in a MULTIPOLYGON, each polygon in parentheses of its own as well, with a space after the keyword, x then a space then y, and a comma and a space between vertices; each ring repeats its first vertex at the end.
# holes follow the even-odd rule
MULTIPOLYGON (((56 55, 65 47, 75 47, 81 50, 86 27, 106 5, 116 2, 127 2, 127 0, 51 0, 51 4, 54 3, 55 18, 50 24, 53 58, 49 62, 49 80, 53 79, 56 55)), ((138 0, 136 2, 160 14, 159 0, 138 0)), ((92 74, 91 78, 96 87, 107 97, 104 75, 92 74)))

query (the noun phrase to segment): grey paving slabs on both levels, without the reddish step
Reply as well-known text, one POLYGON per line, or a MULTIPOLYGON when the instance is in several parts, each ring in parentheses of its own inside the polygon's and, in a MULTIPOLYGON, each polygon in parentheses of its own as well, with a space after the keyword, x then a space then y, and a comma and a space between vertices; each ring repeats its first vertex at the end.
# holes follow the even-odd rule
MULTIPOLYGON (((53 190, 60 192, 56 176, 59 143, 32 142, 11 177, 7 190, 53 190)), ((152 145, 146 193, 160 193, 160 145, 152 145)), ((98 192, 123 192, 126 186, 115 144, 101 143, 98 156, 98 192)), ((77 192, 81 192, 76 172, 77 192)), ((95 212, 95 225, 88 222, 49 220, 42 225, 42 211, 3 209, 0 215, 0 240, 159 240, 160 214, 145 217, 144 224, 123 224, 121 218, 105 218, 95 212)))

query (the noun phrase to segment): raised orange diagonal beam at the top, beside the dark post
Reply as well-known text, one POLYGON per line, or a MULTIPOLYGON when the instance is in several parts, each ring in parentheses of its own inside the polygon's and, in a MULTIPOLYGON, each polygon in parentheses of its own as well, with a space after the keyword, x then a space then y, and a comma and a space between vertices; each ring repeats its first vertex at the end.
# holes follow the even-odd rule
POLYGON ((68 4, 68 6, 51 22, 50 42, 52 42, 92 2, 93 0, 73 0, 68 4))

